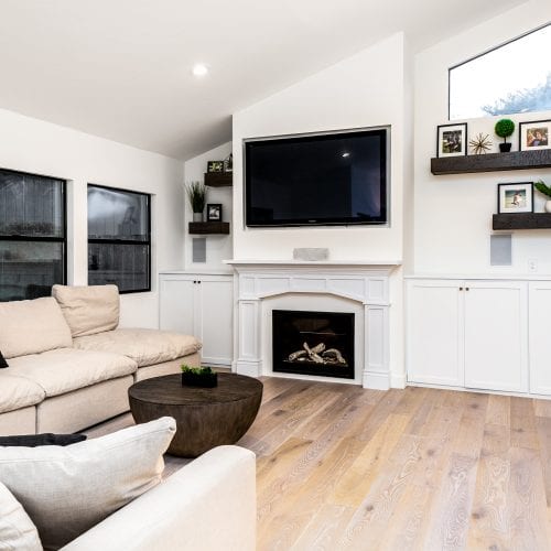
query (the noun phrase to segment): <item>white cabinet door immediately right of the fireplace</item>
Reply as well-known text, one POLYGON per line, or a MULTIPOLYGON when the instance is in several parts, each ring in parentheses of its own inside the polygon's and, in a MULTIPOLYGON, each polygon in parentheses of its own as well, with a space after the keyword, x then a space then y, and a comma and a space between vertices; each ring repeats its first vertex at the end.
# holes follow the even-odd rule
POLYGON ((409 381, 463 386, 462 285, 456 280, 408 282, 409 381))

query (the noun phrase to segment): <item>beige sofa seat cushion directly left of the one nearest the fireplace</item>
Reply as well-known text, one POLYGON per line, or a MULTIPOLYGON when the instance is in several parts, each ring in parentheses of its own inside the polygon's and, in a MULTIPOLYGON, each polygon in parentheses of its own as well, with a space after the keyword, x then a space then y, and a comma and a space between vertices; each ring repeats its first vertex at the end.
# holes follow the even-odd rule
POLYGON ((61 348, 13 358, 11 374, 30 379, 46 398, 133 374, 136 361, 120 354, 61 348))

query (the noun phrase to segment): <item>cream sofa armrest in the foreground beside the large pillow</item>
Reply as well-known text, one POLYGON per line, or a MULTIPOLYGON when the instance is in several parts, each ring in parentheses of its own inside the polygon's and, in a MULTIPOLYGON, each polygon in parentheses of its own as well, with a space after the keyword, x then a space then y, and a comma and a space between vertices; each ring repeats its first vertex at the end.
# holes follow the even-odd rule
POLYGON ((256 548, 256 458, 219 446, 65 545, 65 551, 256 548))

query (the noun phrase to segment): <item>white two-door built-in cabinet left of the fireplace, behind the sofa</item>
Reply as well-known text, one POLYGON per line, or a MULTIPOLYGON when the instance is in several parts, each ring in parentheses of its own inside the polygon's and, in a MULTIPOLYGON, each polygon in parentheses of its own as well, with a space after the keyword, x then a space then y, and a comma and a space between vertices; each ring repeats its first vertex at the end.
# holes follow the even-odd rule
POLYGON ((196 336, 203 365, 233 360, 234 277, 166 272, 160 276, 160 326, 196 336))

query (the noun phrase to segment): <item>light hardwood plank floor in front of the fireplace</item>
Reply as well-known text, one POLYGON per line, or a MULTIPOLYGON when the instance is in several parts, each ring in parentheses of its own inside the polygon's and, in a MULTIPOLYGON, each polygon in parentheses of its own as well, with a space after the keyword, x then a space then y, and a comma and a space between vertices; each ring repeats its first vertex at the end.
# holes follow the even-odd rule
POLYGON ((551 549, 551 401, 262 380, 259 550, 551 549))

